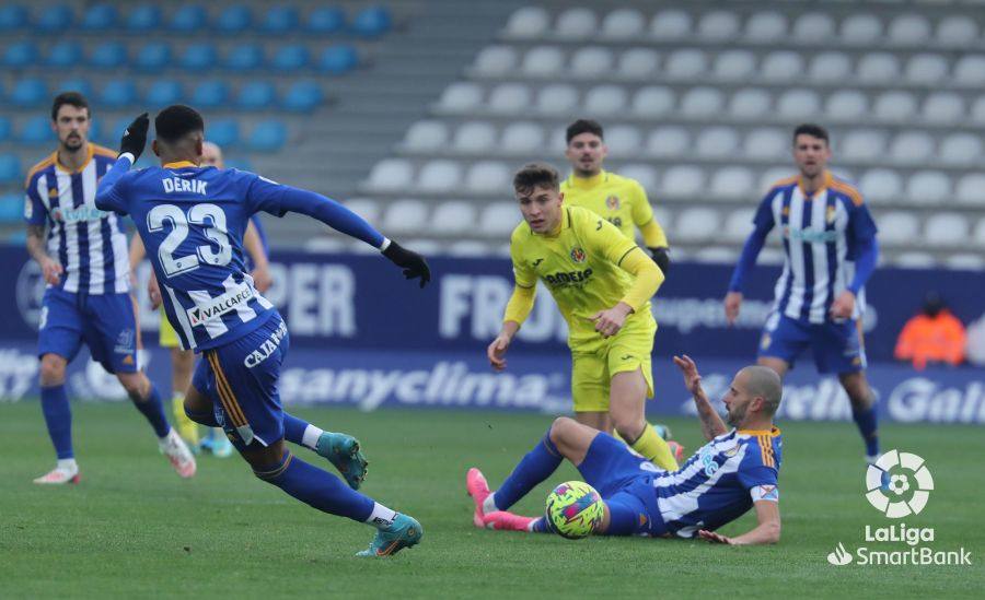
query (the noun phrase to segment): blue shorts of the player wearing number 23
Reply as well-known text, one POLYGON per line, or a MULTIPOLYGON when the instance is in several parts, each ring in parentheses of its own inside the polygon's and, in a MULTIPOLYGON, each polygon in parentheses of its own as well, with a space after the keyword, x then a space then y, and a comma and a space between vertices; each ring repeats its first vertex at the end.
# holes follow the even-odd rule
POLYGON ((198 361, 192 385, 212 400, 216 421, 239 449, 283 437, 277 379, 289 346, 287 326, 271 313, 257 329, 204 351, 198 361))

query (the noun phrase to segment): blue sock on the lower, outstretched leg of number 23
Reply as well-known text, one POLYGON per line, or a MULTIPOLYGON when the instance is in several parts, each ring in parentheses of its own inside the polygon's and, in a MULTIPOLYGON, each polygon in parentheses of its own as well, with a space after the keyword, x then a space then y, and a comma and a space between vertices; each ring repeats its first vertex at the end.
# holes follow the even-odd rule
POLYGON ((373 514, 375 503, 372 498, 350 490, 337 477, 312 467, 289 451, 283 452, 273 469, 254 471, 254 474, 329 515, 366 522, 373 514))

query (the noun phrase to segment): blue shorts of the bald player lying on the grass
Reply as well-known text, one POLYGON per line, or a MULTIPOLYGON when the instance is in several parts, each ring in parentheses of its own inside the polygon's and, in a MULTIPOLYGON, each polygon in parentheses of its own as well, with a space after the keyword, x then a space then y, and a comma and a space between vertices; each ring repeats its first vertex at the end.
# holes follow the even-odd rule
POLYGON ((604 501, 619 503, 639 515, 636 533, 663 536, 667 532, 653 490, 653 477, 663 471, 629 446, 600 433, 589 446, 578 471, 604 501))

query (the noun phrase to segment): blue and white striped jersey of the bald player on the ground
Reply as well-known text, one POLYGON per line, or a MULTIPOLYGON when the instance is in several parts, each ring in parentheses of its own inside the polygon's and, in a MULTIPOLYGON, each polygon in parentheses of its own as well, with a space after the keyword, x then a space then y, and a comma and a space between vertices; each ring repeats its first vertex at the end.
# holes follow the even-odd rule
POLYGON ((691 538, 715 530, 752 508, 779 502, 780 431, 732 430, 695 452, 671 473, 653 477, 657 506, 667 531, 691 538))

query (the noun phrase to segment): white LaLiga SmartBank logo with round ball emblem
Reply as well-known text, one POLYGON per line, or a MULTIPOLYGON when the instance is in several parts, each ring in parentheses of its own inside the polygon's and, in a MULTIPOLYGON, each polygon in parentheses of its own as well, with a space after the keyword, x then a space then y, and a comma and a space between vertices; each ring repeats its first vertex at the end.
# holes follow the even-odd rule
MULTIPOLYGON (((887 518, 901 519, 919 515, 927 506, 934 490, 934 478, 924 459, 911 452, 890 450, 879 457, 866 471, 866 499, 887 518)), ((835 566, 855 563, 868 565, 971 565, 971 552, 958 550, 935 550, 928 544, 935 541, 934 528, 907 527, 905 522, 889 527, 867 525, 864 534, 867 543, 903 543, 906 548, 882 550, 859 546, 849 552, 838 542, 827 562, 835 566)))

